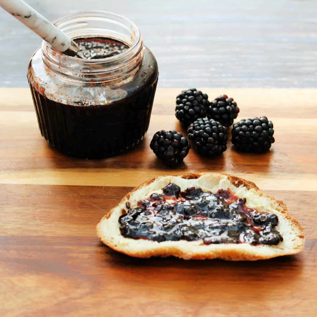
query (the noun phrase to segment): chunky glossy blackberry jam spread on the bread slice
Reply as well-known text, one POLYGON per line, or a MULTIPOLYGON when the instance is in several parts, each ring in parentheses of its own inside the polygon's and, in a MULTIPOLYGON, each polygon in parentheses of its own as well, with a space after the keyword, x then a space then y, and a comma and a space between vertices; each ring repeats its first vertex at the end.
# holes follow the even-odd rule
POLYGON ((126 204, 119 217, 121 235, 133 239, 195 241, 211 243, 249 243, 277 245, 283 241, 275 230, 278 217, 249 208, 245 198, 228 188, 217 193, 189 187, 181 191, 170 183, 162 194, 153 193, 140 200, 136 208, 126 204))

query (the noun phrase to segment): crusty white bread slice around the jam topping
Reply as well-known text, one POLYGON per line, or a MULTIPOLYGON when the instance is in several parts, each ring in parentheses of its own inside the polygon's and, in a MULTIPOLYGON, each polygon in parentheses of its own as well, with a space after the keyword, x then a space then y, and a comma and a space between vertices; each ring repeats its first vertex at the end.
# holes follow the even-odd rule
POLYGON ((163 176, 153 178, 128 193, 120 203, 104 216, 97 225, 97 235, 110 248, 129 256, 177 256, 183 259, 224 260, 259 260, 275 256, 290 255, 304 248, 305 238, 301 225, 289 216, 286 205, 264 192, 256 184, 220 173, 187 173, 179 176, 163 176), (164 241, 156 242, 147 239, 132 239, 121 235, 118 219, 123 210, 127 210, 126 202, 131 209, 139 200, 148 198, 152 193, 162 193, 162 188, 169 183, 178 185, 182 191, 188 187, 200 187, 203 191, 217 192, 219 189, 230 189, 234 195, 246 198, 246 205, 262 212, 274 213, 279 222, 276 226, 283 237, 278 245, 251 245, 249 243, 204 244, 196 241, 164 241))

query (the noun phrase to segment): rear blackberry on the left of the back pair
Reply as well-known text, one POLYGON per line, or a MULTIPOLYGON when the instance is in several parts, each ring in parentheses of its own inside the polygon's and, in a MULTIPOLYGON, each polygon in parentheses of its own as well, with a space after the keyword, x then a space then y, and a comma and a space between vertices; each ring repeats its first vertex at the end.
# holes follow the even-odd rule
POLYGON ((210 102, 208 95, 196 88, 183 90, 176 97, 175 116, 186 128, 198 118, 204 118, 210 102))

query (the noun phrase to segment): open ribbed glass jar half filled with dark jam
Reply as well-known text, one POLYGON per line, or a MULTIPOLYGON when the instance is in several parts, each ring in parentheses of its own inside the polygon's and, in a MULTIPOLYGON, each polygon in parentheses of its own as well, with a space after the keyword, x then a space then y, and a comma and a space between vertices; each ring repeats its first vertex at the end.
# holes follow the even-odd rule
POLYGON ((77 12, 54 24, 78 43, 81 57, 43 41, 28 81, 42 136, 80 158, 133 148, 150 122, 158 65, 137 26, 104 11, 77 12))

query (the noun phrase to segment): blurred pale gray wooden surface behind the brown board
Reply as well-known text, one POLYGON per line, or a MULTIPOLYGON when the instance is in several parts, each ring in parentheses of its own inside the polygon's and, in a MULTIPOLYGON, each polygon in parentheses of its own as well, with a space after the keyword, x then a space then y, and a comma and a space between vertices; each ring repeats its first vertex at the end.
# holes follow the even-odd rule
MULTIPOLYGON (((81 10, 133 20, 159 87, 316 87, 317 0, 26 0, 50 21, 81 10)), ((41 39, 0 8, 0 87, 26 87, 41 39)))

